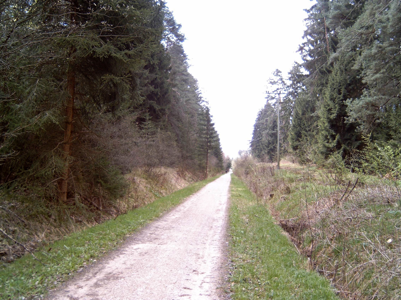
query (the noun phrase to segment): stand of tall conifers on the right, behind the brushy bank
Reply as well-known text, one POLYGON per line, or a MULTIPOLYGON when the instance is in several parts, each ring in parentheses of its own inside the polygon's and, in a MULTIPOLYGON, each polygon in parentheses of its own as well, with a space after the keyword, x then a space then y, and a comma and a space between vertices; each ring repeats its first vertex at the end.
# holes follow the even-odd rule
POLYGON ((281 153, 314 163, 335 156, 351 170, 399 175, 399 1, 317 0, 306 11, 303 62, 269 79, 252 154, 276 159, 280 97, 281 153))

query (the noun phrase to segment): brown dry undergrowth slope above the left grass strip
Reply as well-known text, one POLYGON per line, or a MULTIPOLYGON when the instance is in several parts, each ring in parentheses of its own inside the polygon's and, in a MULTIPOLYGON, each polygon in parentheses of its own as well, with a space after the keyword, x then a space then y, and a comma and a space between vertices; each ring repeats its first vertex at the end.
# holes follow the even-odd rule
POLYGON ((174 168, 136 169, 125 174, 126 193, 115 198, 76 193, 66 203, 49 201, 41 188, 0 189, 0 263, 40 245, 146 205, 192 182, 174 168), (15 242, 18 240, 18 242, 15 242))

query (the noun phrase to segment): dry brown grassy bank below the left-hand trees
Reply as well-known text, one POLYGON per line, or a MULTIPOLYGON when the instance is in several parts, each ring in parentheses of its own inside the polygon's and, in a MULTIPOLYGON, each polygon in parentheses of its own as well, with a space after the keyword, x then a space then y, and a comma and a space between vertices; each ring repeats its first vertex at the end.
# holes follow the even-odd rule
POLYGON ((27 250, 33 251, 41 244, 146 205, 193 182, 189 173, 180 175, 177 169, 167 167, 155 167, 151 171, 140 168, 127 174, 126 179, 129 190, 125 197, 118 198, 113 205, 103 206, 101 211, 92 214, 85 215, 66 207, 68 216, 63 223, 50 213, 51 207, 43 206, 40 198, 27 202, 24 197, 17 199, 0 194, 0 228, 25 246, 0 232, 1 261, 12 262, 27 250))

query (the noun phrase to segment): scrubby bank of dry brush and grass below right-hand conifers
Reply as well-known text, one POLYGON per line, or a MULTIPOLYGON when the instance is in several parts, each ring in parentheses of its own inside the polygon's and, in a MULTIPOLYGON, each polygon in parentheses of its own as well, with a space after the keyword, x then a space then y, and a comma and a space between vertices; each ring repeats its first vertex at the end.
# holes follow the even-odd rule
POLYGON ((400 181, 351 173, 335 158, 320 168, 281 165, 251 161, 237 171, 309 267, 342 298, 401 299, 400 181))

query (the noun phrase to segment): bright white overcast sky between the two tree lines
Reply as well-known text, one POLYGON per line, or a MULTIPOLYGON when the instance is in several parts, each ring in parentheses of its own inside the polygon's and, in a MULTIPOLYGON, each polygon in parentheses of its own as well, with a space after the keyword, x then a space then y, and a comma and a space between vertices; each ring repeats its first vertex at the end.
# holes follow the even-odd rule
POLYGON ((287 75, 314 0, 166 0, 185 34, 189 72, 198 80, 219 133, 234 158, 249 148, 267 80, 287 75))

